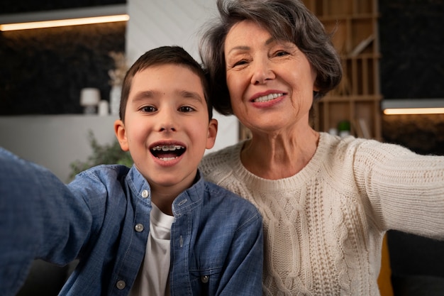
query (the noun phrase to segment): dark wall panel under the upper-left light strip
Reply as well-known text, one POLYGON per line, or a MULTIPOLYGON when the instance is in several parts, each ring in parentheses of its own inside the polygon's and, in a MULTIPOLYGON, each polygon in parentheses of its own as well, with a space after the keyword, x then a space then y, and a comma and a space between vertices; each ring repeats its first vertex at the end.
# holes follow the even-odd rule
POLYGON ((77 114, 80 89, 109 99, 111 51, 125 50, 126 23, 0 33, 0 115, 77 114))

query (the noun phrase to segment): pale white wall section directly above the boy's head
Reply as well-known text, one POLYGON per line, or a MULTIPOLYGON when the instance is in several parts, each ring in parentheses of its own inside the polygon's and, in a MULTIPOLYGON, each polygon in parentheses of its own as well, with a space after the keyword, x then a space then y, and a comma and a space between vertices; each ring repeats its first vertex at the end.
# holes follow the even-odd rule
POLYGON ((128 0, 127 5, 129 62, 162 45, 180 45, 199 60, 198 33, 216 13, 216 0, 128 0))

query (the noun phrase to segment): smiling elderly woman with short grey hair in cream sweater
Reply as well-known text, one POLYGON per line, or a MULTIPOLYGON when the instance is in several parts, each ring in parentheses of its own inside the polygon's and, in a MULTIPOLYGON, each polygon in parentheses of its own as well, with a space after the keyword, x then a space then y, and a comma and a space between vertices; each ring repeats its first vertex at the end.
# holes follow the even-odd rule
POLYGON ((444 157, 314 131, 342 76, 320 21, 298 0, 217 4, 200 48, 213 104, 252 138, 200 168, 262 213, 264 295, 379 295, 388 229, 444 238, 444 157))

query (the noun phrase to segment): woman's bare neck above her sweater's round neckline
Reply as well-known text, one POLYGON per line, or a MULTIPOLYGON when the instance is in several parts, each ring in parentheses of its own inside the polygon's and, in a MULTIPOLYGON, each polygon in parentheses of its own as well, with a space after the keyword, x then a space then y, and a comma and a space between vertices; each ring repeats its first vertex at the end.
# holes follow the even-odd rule
POLYGON ((240 160, 247 170, 269 180, 291 177, 311 160, 318 147, 319 133, 252 134, 245 142, 240 160))

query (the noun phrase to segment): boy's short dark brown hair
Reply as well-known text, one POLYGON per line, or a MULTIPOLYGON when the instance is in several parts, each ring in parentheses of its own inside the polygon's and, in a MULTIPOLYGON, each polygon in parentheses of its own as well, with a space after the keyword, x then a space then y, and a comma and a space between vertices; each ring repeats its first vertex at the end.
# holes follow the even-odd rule
POLYGON ((161 46, 160 48, 154 48, 141 55, 130 67, 128 72, 126 72, 122 85, 121 105, 119 110, 121 121, 125 122, 126 103, 128 102, 131 85, 133 84, 133 77, 138 72, 145 70, 148 67, 167 64, 182 65, 199 76, 202 88, 204 89, 209 119, 213 117, 213 106, 209 100, 209 83, 207 82, 205 72, 199 62, 196 62, 186 50, 179 46, 161 46))

